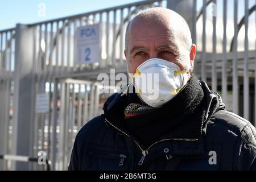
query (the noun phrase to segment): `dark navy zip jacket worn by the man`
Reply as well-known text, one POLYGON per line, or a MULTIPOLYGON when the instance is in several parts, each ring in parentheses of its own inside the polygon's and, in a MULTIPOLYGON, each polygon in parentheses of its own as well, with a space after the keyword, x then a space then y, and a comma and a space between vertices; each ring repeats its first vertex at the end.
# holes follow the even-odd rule
POLYGON ((256 130, 246 119, 225 110, 221 97, 200 82, 206 98, 199 138, 163 136, 150 148, 113 125, 106 112, 125 97, 113 94, 105 114, 86 123, 76 136, 69 170, 255 170, 256 130))

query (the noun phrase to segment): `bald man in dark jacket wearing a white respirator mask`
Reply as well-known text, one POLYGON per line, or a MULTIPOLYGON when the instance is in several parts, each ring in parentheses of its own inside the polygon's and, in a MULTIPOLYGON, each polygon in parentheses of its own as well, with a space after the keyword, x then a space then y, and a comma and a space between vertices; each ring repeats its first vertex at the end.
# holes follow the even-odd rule
POLYGON ((136 15, 125 56, 134 87, 110 96, 104 114, 82 127, 69 170, 256 169, 256 130, 193 75, 196 46, 179 14, 153 8, 136 15), (148 73, 159 76, 156 98, 142 92, 148 73))

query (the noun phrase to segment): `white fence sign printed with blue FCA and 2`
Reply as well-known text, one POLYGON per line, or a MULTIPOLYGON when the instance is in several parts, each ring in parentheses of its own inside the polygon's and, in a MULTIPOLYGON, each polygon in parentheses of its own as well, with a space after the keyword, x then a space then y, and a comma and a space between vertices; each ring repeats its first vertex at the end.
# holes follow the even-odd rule
POLYGON ((77 28, 77 64, 100 61, 100 24, 77 28))

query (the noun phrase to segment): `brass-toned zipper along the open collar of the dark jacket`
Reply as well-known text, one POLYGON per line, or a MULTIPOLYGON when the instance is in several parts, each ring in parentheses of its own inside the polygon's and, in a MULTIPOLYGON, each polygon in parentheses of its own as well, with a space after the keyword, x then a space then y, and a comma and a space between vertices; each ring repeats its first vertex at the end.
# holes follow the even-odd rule
MULTIPOLYGON (((110 123, 110 122, 108 121, 108 119, 105 118, 105 121, 108 122, 109 125, 111 125, 112 127, 114 127, 114 129, 120 131, 122 134, 124 134, 124 135, 126 135, 127 137, 130 138, 130 135, 129 135, 129 134, 125 133, 125 131, 122 131, 121 129, 118 129, 118 127, 116 127, 116 126, 114 126, 112 123, 110 123)), ((142 152, 142 158, 141 158, 141 160, 139 160, 138 165, 142 165, 142 164, 143 164, 144 159, 145 159, 145 157, 146 157, 147 154, 148 154, 148 150, 150 150, 151 147, 153 147, 155 144, 158 144, 158 143, 160 143, 160 142, 164 142, 164 141, 167 141, 167 140, 180 140, 180 141, 186 141, 186 142, 195 142, 195 141, 197 141, 197 140, 199 140, 199 139, 198 139, 198 138, 166 138, 166 139, 162 139, 162 140, 159 140, 158 142, 155 142, 155 143, 151 144, 151 146, 149 146, 146 150, 144 150, 144 149, 141 147, 141 145, 140 145, 138 142, 136 142, 136 141, 134 140, 134 143, 139 147, 139 150, 141 150, 141 152, 142 152)))

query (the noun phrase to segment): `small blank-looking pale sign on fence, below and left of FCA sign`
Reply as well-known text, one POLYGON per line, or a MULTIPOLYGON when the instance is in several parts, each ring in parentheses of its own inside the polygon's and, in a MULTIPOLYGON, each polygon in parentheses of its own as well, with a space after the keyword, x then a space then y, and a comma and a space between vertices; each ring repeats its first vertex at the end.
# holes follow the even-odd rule
POLYGON ((36 113, 47 113, 49 111, 49 94, 39 93, 36 95, 36 113))

